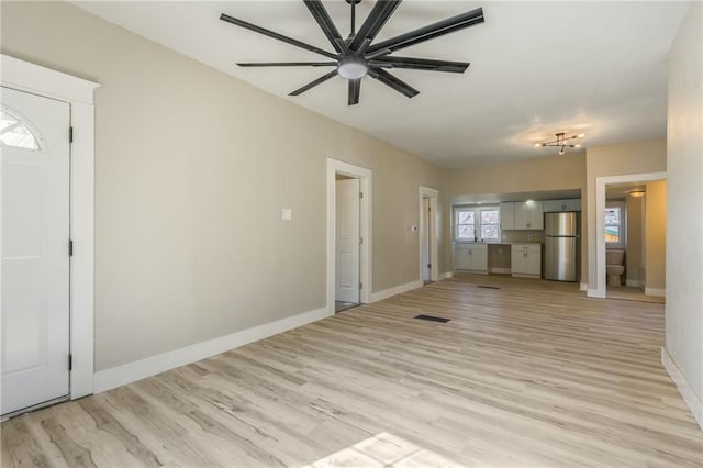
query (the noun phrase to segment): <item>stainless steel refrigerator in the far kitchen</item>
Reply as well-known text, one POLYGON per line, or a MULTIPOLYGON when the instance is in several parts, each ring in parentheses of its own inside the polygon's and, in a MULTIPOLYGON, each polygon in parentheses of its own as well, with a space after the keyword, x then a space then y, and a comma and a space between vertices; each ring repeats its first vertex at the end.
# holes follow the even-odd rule
POLYGON ((545 279, 579 281, 581 213, 545 213, 545 279))

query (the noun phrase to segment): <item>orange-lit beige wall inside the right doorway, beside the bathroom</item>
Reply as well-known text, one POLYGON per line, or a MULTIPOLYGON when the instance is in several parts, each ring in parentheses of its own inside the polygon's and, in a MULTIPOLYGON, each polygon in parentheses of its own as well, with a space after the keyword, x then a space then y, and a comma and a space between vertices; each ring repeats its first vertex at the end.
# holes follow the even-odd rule
POLYGON ((648 294, 663 294, 666 253, 667 182, 649 182, 645 210, 645 292, 648 294))

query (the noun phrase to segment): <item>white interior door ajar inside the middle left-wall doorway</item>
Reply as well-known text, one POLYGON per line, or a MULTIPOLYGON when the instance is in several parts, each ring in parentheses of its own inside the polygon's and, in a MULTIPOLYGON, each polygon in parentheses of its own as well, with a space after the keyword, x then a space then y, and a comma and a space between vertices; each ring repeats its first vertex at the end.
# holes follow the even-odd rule
POLYGON ((359 179, 336 181, 335 299, 359 302, 359 179))

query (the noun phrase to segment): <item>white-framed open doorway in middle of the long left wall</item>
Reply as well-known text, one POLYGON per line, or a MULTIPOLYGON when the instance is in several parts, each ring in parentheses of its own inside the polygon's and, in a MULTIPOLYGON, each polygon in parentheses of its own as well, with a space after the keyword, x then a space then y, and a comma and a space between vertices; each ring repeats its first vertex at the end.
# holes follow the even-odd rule
POLYGON ((371 171, 327 160, 327 311, 369 302, 371 171))

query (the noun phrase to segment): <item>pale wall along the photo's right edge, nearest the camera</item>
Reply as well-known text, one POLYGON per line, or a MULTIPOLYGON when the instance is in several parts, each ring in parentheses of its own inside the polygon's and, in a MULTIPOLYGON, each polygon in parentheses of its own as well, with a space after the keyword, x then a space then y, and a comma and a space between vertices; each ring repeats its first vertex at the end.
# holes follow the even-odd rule
MULTIPOLYGON (((703 5, 693 2, 669 54, 667 352, 703 427, 703 5)), ((684 392, 682 392, 684 393, 684 392)), ((687 394, 684 393, 684 394, 687 394)))

